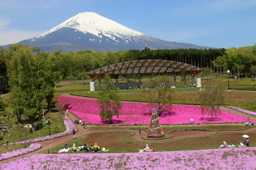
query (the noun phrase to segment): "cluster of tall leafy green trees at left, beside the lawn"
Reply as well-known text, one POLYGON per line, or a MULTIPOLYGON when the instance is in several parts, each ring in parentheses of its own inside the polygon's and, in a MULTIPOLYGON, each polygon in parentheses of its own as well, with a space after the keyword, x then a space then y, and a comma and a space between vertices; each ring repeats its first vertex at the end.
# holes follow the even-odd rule
POLYGON ((1 58, 6 65, 13 112, 18 122, 21 122, 21 116, 25 115, 33 125, 35 117, 42 110, 41 103, 47 101, 50 108, 53 98, 51 56, 39 52, 36 47, 11 45, 9 50, 3 52, 1 58))

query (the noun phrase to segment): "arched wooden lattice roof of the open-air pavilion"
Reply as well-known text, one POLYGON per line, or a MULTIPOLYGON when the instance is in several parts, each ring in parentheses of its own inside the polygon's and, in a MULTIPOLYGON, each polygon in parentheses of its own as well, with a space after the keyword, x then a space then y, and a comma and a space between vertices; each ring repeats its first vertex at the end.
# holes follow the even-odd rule
POLYGON ((87 75, 92 81, 102 79, 105 74, 109 74, 111 78, 118 79, 121 77, 131 77, 131 75, 137 75, 140 77, 151 75, 199 75, 203 69, 194 65, 186 64, 183 62, 158 60, 158 59, 145 59, 134 60, 127 62, 120 62, 112 65, 108 65, 96 70, 90 71, 87 75))

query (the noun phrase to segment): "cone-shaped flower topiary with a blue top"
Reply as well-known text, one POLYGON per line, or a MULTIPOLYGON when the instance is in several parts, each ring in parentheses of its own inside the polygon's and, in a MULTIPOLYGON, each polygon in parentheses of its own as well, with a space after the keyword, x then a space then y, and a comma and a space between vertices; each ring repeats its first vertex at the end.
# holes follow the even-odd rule
POLYGON ((162 137, 163 136, 163 128, 159 122, 159 118, 157 116, 157 112, 154 109, 154 112, 151 116, 151 121, 148 128, 147 137, 162 137))

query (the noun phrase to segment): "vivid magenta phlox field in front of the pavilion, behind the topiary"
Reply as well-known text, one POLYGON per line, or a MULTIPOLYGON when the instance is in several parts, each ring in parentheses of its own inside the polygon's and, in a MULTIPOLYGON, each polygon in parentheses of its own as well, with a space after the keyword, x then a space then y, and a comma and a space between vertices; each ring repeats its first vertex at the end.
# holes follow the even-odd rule
MULTIPOLYGON (((80 97, 58 96, 58 102, 63 103, 65 108, 74 113, 85 123, 93 125, 106 125, 101 122, 99 116, 99 104, 97 99, 87 99, 80 97)), ((148 103, 138 102, 121 102, 122 109, 119 111, 119 118, 113 116, 115 125, 134 125, 134 124, 149 124, 151 114, 154 108, 150 108, 148 103)), ((190 119, 194 119, 195 124, 201 123, 224 123, 224 122, 245 122, 247 119, 241 116, 234 115, 225 111, 221 112, 221 118, 210 121, 210 115, 205 121, 201 119, 203 116, 199 106, 192 105, 172 105, 172 111, 165 108, 162 115, 159 117, 161 124, 183 124, 189 123, 190 119)), ((214 116, 215 118, 215 116, 214 116)), ((253 122, 253 121, 251 121, 253 122)))

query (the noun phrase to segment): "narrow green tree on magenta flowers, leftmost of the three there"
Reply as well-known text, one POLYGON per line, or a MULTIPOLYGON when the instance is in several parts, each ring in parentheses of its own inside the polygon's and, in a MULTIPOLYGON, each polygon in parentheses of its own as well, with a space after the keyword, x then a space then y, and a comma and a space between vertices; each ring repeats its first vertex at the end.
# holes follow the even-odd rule
POLYGON ((99 116, 102 119, 102 122, 112 124, 112 116, 119 115, 119 109, 121 109, 121 104, 119 102, 119 97, 117 96, 116 86, 113 85, 112 79, 108 74, 105 74, 104 81, 106 89, 99 94, 99 116))

